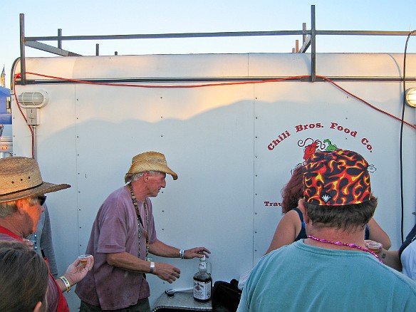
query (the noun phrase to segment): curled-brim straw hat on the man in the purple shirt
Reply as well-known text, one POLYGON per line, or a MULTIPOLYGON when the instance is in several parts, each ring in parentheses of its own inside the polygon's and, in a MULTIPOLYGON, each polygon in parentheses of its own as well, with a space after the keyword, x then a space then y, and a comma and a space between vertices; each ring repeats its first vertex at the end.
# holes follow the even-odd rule
POLYGON ((167 167, 165 155, 160 152, 143 152, 135 155, 132 158, 132 165, 125 174, 124 180, 127 183, 135 173, 149 171, 165 172, 168 175, 172 175, 173 180, 177 180, 177 174, 170 167, 167 167))

